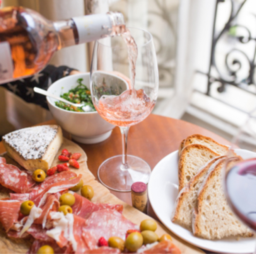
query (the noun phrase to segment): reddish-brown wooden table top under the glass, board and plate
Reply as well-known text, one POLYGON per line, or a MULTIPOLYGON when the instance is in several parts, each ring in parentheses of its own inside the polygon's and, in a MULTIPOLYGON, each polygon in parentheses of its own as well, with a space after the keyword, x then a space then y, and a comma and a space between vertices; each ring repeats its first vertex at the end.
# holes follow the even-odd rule
MULTIPOLYGON (((43 124, 56 124, 55 120, 43 124)), ((128 154, 141 157, 154 169, 155 165, 167 154, 175 151, 179 143, 188 135, 202 134, 213 138, 221 144, 229 144, 222 137, 203 129, 197 125, 182 120, 171 119, 159 115, 149 115, 141 123, 132 126, 128 134, 128 154)), ((65 137, 70 136, 64 132, 65 137)), ((111 136, 98 144, 79 144, 88 156, 88 168, 97 179, 97 170, 100 164, 111 156, 122 153, 121 134, 118 127, 113 129, 111 136)), ((0 154, 4 152, 0 142, 0 154)), ((119 199, 131 205, 130 192, 111 191, 119 199)), ((149 208, 149 215, 155 217, 152 209, 149 208)))

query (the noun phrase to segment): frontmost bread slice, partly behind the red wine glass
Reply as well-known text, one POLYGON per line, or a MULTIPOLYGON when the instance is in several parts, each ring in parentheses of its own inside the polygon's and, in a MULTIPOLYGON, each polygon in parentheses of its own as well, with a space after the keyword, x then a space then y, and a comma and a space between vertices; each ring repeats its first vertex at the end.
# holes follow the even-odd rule
MULTIPOLYGON (((239 157, 230 158, 228 167, 240 161, 239 157)), ((236 217, 227 204, 222 187, 221 159, 208 173, 198 191, 197 206, 192 216, 193 234, 205 239, 221 239, 229 236, 251 237, 253 232, 236 217)))

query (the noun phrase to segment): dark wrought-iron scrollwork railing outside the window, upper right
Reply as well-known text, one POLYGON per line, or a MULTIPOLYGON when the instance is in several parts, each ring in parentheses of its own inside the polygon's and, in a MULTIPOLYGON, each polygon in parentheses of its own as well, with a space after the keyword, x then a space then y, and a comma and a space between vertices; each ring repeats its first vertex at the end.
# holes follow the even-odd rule
MULTIPOLYGON (((251 35, 250 30, 245 26, 241 24, 236 24, 237 17, 239 13, 242 10, 242 7, 247 2, 247 0, 243 0, 241 3, 237 3, 235 0, 229 0, 231 2, 231 10, 230 10, 230 16, 227 20, 226 24, 220 30, 220 32, 215 31, 215 25, 216 25, 216 17, 217 17, 217 11, 219 5, 221 5, 226 0, 217 0, 215 5, 215 17, 214 17, 214 24, 213 24, 213 36, 212 36, 212 49, 211 49, 211 58, 210 58, 210 66, 208 69, 208 73, 204 73, 208 76, 208 85, 207 85, 207 95, 210 95, 210 88, 212 83, 218 82, 220 83, 220 86, 218 87, 218 91, 221 93, 225 90, 225 85, 234 85, 239 88, 243 88, 245 84, 246 85, 255 85, 254 80, 254 71, 255 71, 255 57, 256 57, 256 38, 253 38, 251 35), (232 31, 237 30, 243 31, 244 35, 237 34, 237 32, 232 33, 232 31), (228 36, 232 40, 236 40, 237 42, 241 44, 248 44, 249 42, 254 41, 254 52, 252 53, 252 56, 248 56, 247 52, 244 52, 241 47, 237 46, 231 48, 226 54, 225 54, 225 63, 222 65, 222 68, 219 68, 218 63, 216 61, 216 47, 218 42, 220 42, 220 39, 224 36, 228 36), (248 72, 241 78, 241 69, 244 67, 244 65, 247 65, 248 72), (225 66, 225 68, 223 68, 225 66), (220 69, 222 71, 220 71, 220 69), (223 69, 225 69, 226 73, 224 75, 223 69), (240 77, 238 77, 240 71, 240 77), (215 73, 213 75, 213 73, 215 73)), ((256 16, 254 15, 256 18, 256 16)))

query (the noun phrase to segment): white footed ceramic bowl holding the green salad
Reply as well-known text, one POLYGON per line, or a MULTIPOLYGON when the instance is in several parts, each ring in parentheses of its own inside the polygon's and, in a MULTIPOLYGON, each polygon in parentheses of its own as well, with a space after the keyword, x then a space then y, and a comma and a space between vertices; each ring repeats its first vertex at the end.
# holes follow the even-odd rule
MULTIPOLYGON (((82 78, 82 83, 90 88, 90 73, 80 73, 61 78, 48 88, 48 92, 55 95, 67 93, 71 88, 78 86, 77 80, 82 78)), ((94 144, 107 139, 115 127, 104 120, 98 112, 72 112, 55 105, 56 100, 46 97, 49 110, 57 124, 72 135, 75 141, 84 144, 94 144)))

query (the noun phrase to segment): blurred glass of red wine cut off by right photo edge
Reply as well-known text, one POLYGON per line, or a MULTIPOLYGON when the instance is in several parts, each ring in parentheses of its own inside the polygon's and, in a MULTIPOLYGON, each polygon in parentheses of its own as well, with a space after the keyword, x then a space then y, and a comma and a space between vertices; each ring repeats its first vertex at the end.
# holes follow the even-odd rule
POLYGON ((223 169, 230 208, 251 232, 256 231, 256 109, 234 136, 223 169))

